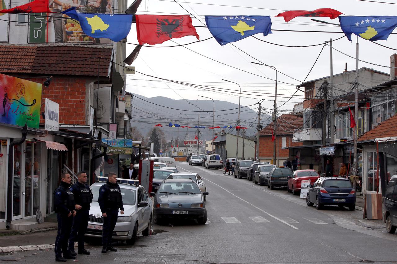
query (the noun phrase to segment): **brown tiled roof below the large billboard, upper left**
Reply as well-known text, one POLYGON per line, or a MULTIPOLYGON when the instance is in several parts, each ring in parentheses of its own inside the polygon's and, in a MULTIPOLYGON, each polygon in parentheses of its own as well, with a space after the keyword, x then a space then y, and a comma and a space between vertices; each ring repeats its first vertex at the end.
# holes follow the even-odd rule
POLYGON ((0 73, 108 77, 113 47, 0 45, 0 73), (101 57, 103 59, 98 59, 101 57))

